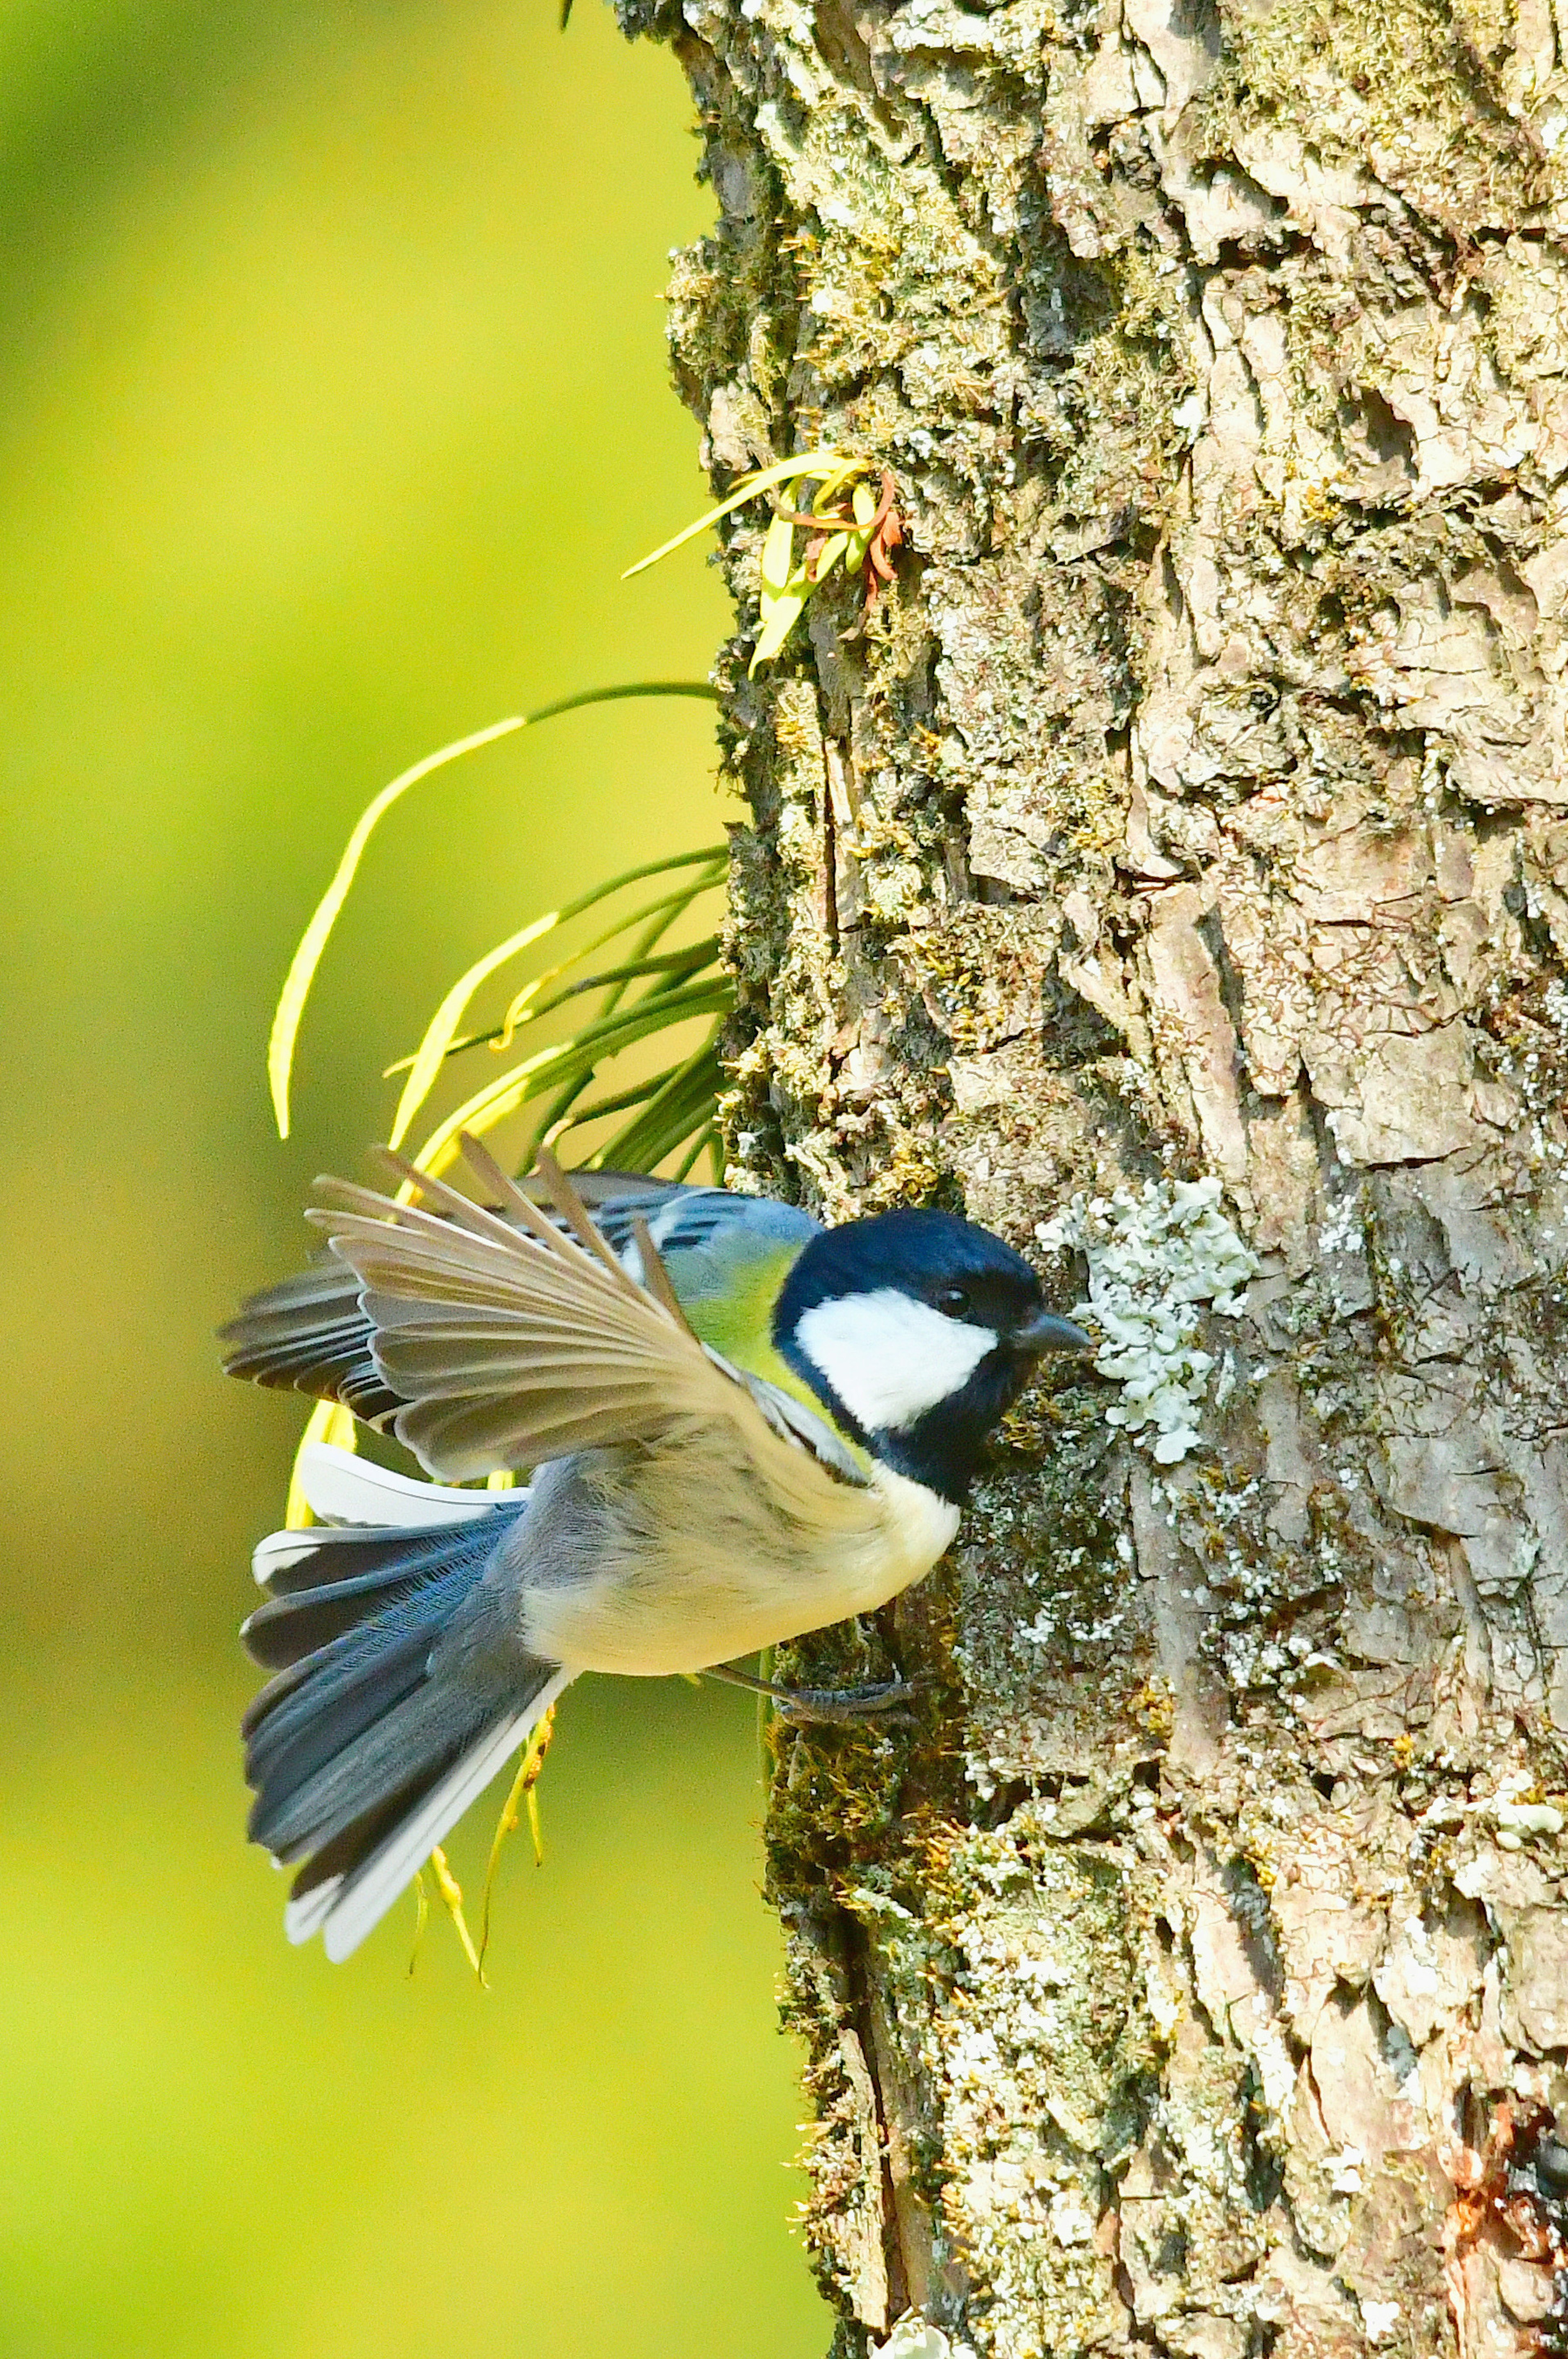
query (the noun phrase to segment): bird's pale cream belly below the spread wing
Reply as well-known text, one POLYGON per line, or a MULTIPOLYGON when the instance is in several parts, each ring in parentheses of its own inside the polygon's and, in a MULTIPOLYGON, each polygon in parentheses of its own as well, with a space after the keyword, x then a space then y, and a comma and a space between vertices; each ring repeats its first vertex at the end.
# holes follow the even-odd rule
POLYGON ((884 1467, 870 1491, 846 1496, 856 1514, 839 1531, 802 1531, 755 1512, 755 1500, 698 1517, 691 1491, 684 1500, 651 1491, 665 1484, 641 1470, 582 1578, 528 1590, 533 1654, 632 1677, 705 1670, 875 1611, 920 1581, 957 1531, 957 1507, 884 1467))

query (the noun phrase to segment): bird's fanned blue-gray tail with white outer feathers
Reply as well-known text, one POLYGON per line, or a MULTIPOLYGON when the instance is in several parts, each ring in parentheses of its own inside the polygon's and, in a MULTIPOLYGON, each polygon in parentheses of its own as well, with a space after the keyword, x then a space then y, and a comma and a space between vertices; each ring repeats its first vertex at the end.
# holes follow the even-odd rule
POLYGON ((526 1493, 443 1491, 328 1448, 307 1451, 302 1474, 316 1512, 356 1522, 257 1548, 269 1599, 243 1637, 274 1677, 245 1713, 245 1776, 252 1840, 304 1861, 288 1937, 321 1932, 337 1960, 571 1673, 486 1630, 481 1576, 526 1493))

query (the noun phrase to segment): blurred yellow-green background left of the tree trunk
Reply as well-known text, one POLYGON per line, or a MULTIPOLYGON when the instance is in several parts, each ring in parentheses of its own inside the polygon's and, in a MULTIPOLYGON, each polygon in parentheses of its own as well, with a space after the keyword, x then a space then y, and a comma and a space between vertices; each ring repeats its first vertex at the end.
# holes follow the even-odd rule
POLYGON ((804 2359, 745 1698, 568 1698, 488 1996, 436 1918, 408 1979, 413 1908, 290 1951, 233 1625, 302 1413, 212 1349, 450 977, 717 833, 691 703, 415 790, 278 1146, 271 1000, 368 795, 726 627, 696 554, 615 578, 703 500, 677 68, 582 0, 566 38, 552 0, 7 0, 0 146, 0 2350, 804 2359))

